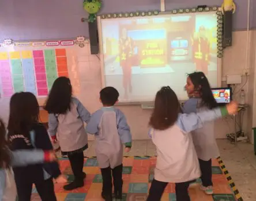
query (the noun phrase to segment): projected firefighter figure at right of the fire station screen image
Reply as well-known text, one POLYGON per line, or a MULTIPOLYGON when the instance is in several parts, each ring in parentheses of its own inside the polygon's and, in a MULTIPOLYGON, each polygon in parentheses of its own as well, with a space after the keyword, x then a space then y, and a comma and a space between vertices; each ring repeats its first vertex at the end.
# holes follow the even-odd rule
POLYGON ((192 41, 192 52, 195 68, 208 74, 208 65, 210 61, 210 42, 205 36, 205 27, 200 26, 199 34, 192 41))

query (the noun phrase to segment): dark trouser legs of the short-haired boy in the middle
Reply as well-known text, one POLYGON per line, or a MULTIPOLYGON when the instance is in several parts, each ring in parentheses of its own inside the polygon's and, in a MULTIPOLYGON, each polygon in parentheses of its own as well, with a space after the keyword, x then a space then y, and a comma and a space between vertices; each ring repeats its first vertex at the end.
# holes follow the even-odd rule
POLYGON ((123 171, 123 164, 118 165, 114 169, 110 167, 101 168, 101 175, 103 179, 103 187, 102 192, 104 195, 111 195, 112 194, 112 176, 114 181, 114 192, 122 192, 122 171, 123 171), (111 172, 112 171, 112 172, 111 172))

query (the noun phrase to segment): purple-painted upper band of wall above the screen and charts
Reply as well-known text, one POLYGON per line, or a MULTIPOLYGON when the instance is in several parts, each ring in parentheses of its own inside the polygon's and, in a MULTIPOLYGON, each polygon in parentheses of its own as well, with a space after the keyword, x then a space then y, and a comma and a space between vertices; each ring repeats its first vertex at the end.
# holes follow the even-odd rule
MULTIPOLYGON (((81 22, 87 17, 82 7, 83 0, 1 0, 0 1, 0 41, 40 40, 54 38, 74 38, 89 36, 88 24, 81 22)), ((197 5, 220 6, 223 0, 166 0, 166 9, 195 7, 197 5)), ((247 28, 247 0, 236 0, 234 30, 247 28)), ((256 7, 255 0, 251 9, 256 7)), ((160 10, 160 0, 103 1, 100 14, 136 10, 160 10)), ((253 13, 251 12, 251 15, 253 13)), ((254 14, 255 15, 255 14, 254 14)), ((253 17, 251 17, 253 19, 253 17)), ((256 28, 256 22, 250 22, 256 28)))

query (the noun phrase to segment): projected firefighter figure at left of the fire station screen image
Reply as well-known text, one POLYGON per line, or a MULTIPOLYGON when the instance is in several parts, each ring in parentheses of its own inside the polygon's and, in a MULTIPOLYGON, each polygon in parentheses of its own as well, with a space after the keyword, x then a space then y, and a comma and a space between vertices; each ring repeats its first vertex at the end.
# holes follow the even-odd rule
POLYGON ((119 39, 119 57, 123 71, 123 88, 125 88, 125 98, 128 98, 128 91, 131 93, 133 90, 131 87, 133 49, 134 41, 127 36, 126 28, 123 28, 119 39))

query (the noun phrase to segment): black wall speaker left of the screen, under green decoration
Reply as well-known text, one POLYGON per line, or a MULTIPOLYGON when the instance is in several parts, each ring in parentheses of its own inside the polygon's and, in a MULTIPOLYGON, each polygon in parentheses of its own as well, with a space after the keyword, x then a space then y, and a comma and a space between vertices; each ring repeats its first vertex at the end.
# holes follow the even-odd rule
POLYGON ((97 53, 99 53, 99 33, 98 33, 97 21, 88 22, 88 27, 89 27, 91 54, 96 55, 97 53))

